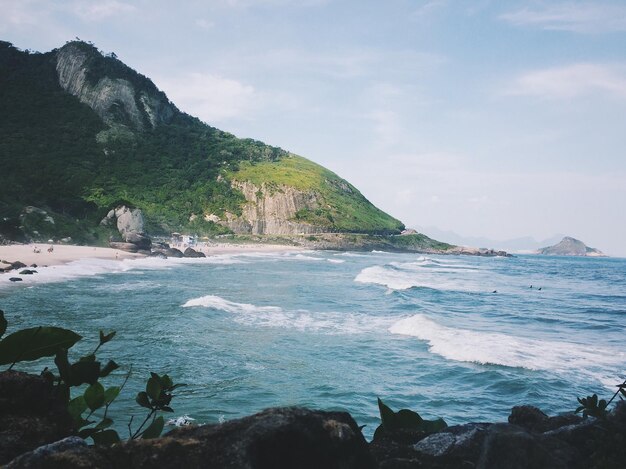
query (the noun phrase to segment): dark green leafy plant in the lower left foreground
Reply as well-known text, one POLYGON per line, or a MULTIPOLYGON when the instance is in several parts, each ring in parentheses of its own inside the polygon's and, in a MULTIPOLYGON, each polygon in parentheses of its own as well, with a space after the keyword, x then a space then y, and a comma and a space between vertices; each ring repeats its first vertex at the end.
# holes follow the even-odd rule
MULTIPOLYGON (((6 329, 7 321, 4 312, 0 310, 0 338, 6 329)), ((96 357, 100 347, 113 337, 115 337, 115 331, 108 334, 100 331, 99 343, 93 352, 70 363, 68 350, 81 340, 82 336, 60 327, 40 326, 21 329, 0 340, 0 365, 10 365, 8 370, 11 370, 19 362, 54 356, 58 374, 46 367, 42 376, 52 383, 59 396, 67 402, 68 412, 74 420, 78 435, 85 439, 91 438, 96 444, 110 445, 119 442, 121 438, 116 430, 110 428, 114 422, 108 415, 109 407, 119 396, 131 374, 131 371, 127 373, 120 386, 105 388, 100 382, 119 368, 113 360, 108 360, 102 365, 96 357), (71 399, 71 389, 83 385, 88 386, 81 394, 71 399)), ((141 407, 148 409, 148 413, 134 431, 132 430, 133 417, 130 418, 129 439, 160 436, 164 420, 158 413, 174 411, 170 407, 170 402, 174 397, 172 391, 184 386, 174 384, 167 374, 160 376, 157 373, 150 373, 150 375, 146 390, 138 393, 135 399, 141 407)))

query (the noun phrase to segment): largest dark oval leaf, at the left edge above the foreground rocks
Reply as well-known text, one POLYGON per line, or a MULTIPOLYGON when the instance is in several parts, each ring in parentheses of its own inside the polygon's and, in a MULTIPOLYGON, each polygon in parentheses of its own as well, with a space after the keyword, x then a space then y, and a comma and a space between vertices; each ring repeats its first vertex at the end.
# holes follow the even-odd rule
POLYGON ((82 337, 60 327, 31 327, 9 334, 0 340, 0 365, 33 361, 69 349, 82 337))

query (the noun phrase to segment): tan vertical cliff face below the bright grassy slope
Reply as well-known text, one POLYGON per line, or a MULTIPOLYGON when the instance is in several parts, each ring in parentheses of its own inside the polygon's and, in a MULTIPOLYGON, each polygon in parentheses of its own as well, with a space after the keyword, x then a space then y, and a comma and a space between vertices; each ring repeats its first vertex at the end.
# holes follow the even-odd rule
POLYGON ((232 187, 246 198, 241 216, 227 212, 220 221, 235 233, 296 235, 321 233, 323 228, 295 220, 300 210, 314 210, 319 202, 315 192, 303 192, 289 186, 269 187, 263 183, 233 181, 232 187))

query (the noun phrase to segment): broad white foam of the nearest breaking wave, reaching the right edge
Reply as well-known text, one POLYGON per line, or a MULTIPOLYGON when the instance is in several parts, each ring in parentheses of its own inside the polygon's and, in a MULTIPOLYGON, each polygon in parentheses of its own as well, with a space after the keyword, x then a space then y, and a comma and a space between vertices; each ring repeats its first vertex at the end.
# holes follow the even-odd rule
POLYGON ((598 377, 621 369, 626 358, 619 350, 448 327, 421 314, 397 321, 389 331, 426 341, 430 352, 448 360, 530 370, 582 370, 598 377))

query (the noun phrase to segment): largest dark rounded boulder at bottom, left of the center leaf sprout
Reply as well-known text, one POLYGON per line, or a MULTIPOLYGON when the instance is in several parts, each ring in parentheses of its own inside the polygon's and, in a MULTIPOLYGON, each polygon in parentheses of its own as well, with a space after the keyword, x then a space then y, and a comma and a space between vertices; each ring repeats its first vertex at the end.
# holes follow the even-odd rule
POLYGON ((8 467, 208 467, 220 469, 374 469, 367 443, 345 412, 268 409, 221 425, 181 427, 154 440, 110 448, 78 446, 8 467))

